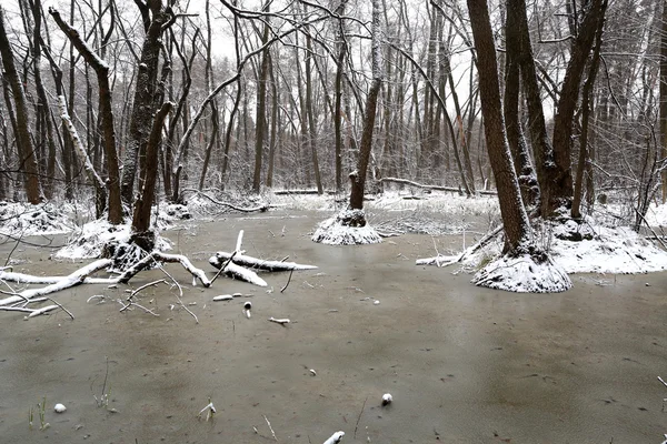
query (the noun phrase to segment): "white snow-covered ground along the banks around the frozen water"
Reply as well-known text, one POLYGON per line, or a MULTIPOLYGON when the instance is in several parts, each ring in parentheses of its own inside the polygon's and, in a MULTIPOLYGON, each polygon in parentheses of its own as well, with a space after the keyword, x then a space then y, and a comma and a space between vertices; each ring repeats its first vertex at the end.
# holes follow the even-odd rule
MULTIPOLYGON (((275 195, 267 193, 262 196, 265 202, 282 211, 318 211, 321 221, 335 215, 346 205, 347 195, 275 195)), ((237 196, 235 203, 239 204, 242 196, 237 196)), ((251 202, 257 204, 257 202, 251 202)), ((188 210, 199 219, 206 219, 221 210, 211 202, 200 198, 188 201, 188 208, 161 204, 158 206, 160 216, 158 225, 166 230, 172 223, 188 219, 188 210)), ((600 206, 596 214, 605 211, 614 213, 613 208, 600 206)), ((470 221, 475 220, 477 228, 494 226, 500 220, 497 200, 494 196, 468 199, 454 193, 397 193, 386 192, 379 196, 371 196, 366 203, 366 213, 369 224, 380 232, 416 232, 431 235, 462 233, 468 230, 470 221), (394 218, 392 215, 396 214, 394 218), (434 215, 446 216, 447 226, 434 215), (397 222, 397 221, 400 221, 397 222), (391 229, 391 225, 394 230, 391 229), (389 228, 388 228, 389 226, 389 228)), ((88 216, 89 218, 89 216, 88 216)), ((126 241, 129 239, 129 225, 113 228, 104 221, 91 221, 77 226, 72 221, 84 219, 81 211, 71 205, 22 205, 0 202, 0 234, 21 236, 36 234, 54 234, 70 232, 71 243, 61 250, 58 258, 92 258, 99 255, 101 244, 110 240, 126 241)), ((667 228, 667 205, 651 205, 647 221, 658 234, 661 228, 667 228)), ((609 223, 609 218, 599 216, 606 223, 596 223, 589 220, 588 229, 594 234, 591 240, 579 242, 563 241, 554 236, 552 230, 540 229, 536 231, 536 242, 550 253, 555 263, 567 273, 645 273, 667 270, 667 253, 661 245, 637 234, 617 219, 609 223)), ((627 222, 629 223, 629 221, 627 222)), ((313 226, 313 230, 316 226, 313 226)), ((481 238, 481 232, 466 232, 467 244, 481 238)), ((475 254, 466 256, 461 264, 468 270, 478 270, 484 264, 496 258, 500 251, 500 239, 485 246, 475 254)), ((162 240, 161 248, 168 249, 168 241, 162 240)), ((458 254, 460 252, 448 252, 458 254)), ((425 252, 425 256, 428 252, 425 252)))

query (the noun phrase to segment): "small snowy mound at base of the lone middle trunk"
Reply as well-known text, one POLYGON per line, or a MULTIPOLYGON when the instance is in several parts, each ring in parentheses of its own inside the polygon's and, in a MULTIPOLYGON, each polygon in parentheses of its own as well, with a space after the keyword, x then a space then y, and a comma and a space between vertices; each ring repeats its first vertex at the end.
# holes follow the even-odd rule
POLYGON ((378 232, 366 223, 364 210, 342 210, 321 222, 312 242, 327 245, 366 245, 382 242, 378 232))

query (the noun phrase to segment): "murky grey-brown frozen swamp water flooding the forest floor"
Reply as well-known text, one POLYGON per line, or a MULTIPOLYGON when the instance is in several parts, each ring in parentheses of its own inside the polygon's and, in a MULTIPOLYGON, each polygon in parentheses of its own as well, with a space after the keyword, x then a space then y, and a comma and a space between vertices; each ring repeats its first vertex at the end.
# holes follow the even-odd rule
MULTIPOLYGON (((344 443, 648 443, 667 428, 657 381, 667 372, 665 272, 579 274, 566 293, 526 295, 472 286, 468 265, 415 265, 484 235, 498 219, 492 199, 369 202, 371 224, 409 233, 365 248, 310 241, 337 211, 330 198, 276 196, 277 210, 247 215, 191 202, 196 220, 172 221, 163 235, 209 273, 208 258, 232 249, 239 230, 248 254, 319 269, 295 273, 283 293, 289 273, 267 275, 268 287, 220 280, 203 289, 169 269, 200 324, 165 286, 141 294, 159 316, 119 313, 122 285, 56 294, 73 322, 64 312, 30 322, 0 313, 3 440, 263 443, 272 440, 266 420, 279 442, 303 444, 338 430, 344 443), (235 292, 245 296, 212 302, 235 292), (251 319, 242 313, 247 301, 251 319), (387 407, 384 393, 394 396, 387 407), (104 394, 109 403, 98 407, 104 394), (39 431, 36 413, 31 431, 28 410, 44 396, 51 425, 39 431), (197 420, 209 398, 217 414, 197 420), (67 412, 53 413, 56 403, 67 412)), ((81 261, 50 260, 64 238, 31 236, 16 249, 7 240, 0 258, 11 254, 20 272, 68 274, 81 261)), ((656 258, 628 263, 659 270, 664 259, 656 258)), ((131 287, 162 278, 148 271, 131 287)))

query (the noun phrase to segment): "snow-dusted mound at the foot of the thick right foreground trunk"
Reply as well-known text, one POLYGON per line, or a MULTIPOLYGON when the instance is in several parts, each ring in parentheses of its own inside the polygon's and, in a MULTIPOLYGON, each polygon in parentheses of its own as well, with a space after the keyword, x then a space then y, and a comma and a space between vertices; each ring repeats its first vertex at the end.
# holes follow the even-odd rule
POLYGON ((477 272, 471 282, 517 293, 559 293, 573 286, 565 270, 551 259, 538 263, 530 254, 502 255, 477 272))

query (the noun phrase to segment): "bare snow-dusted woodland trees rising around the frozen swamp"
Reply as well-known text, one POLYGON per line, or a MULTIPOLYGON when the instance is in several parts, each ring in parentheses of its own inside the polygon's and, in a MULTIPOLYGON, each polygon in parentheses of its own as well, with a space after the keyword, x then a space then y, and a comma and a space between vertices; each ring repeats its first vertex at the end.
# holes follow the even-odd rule
POLYGON ((0 57, 0 201, 93 202, 122 235, 86 276, 176 261, 206 279, 151 222, 193 196, 252 212, 334 194, 347 204, 312 240, 359 244, 381 241, 368 193, 497 195, 501 224, 431 262, 499 240, 472 282, 512 291, 571 286, 536 232, 589 241, 611 218, 663 246, 646 219, 667 198, 659 1, 18 0, 0 57))

